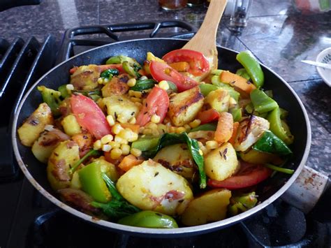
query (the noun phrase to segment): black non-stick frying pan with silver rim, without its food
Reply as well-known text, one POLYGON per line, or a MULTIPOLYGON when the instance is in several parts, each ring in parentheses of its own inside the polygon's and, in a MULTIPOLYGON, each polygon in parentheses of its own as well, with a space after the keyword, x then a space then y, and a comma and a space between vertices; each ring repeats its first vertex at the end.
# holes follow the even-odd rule
MULTIPOLYGON (((117 54, 133 57, 142 63, 147 52, 153 52, 156 56, 162 57, 163 54, 171 50, 182 48, 186 42, 187 41, 185 40, 175 38, 149 38, 103 45, 99 48, 94 48, 87 52, 83 52, 82 54, 78 54, 43 75, 43 77, 39 79, 31 89, 29 89, 22 101, 17 103, 19 105, 16 106, 17 111, 15 112, 15 117, 13 119, 13 149, 20 168, 31 184, 33 184, 34 187, 36 187, 36 189, 52 203, 86 221, 90 221, 105 228, 111 228, 112 231, 119 231, 131 235, 149 235, 160 238, 174 238, 174 236, 179 235, 196 235, 216 231, 216 229, 235 224, 238 221, 242 221, 243 219, 256 214, 284 194, 291 184, 295 182, 295 179, 300 174, 304 167, 304 163, 307 160, 309 147, 311 145, 311 129, 307 112, 293 89, 291 89, 290 86, 279 77, 279 75, 263 65, 262 69, 265 73, 265 89, 272 89, 274 99, 276 99, 281 108, 289 111, 288 124, 291 127, 295 141, 293 145, 290 146, 294 155, 290 158, 286 167, 294 169, 295 173, 293 173, 293 175, 277 173, 274 177, 260 184, 258 186, 258 195, 261 203, 256 207, 253 207, 251 210, 238 214, 235 217, 230 217, 210 224, 175 229, 123 226, 110 221, 96 219, 61 202, 56 192, 50 188, 50 184, 47 182, 45 164, 42 164, 34 157, 30 147, 24 147, 20 143, 20 140, 17 137, 17 127, 20 126, 24 122, 24 119, 29 117, 29 115, 31 115, 31 113, 38 107, 39 103, 42 102, 41 94, 37 90, 39 85, 45 85, 46 87, 57 89, 59 85, 69 82, 69 69, 73 66, 105 64, 105 61, 109 57, 117 54)), ((219 68, 236 71, 238 68, 242 67, 235 59, 237 52, 222 47, 218 47, 217 50, 219 53, 219 68)))

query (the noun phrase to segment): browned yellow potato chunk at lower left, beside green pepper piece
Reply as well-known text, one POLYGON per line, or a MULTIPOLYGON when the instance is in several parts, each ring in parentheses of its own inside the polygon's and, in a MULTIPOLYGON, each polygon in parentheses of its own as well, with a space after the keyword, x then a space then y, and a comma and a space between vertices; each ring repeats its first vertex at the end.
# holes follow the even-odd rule
POLYGON ((47 178, 52 189, 70 187, 69 169, 80 159, 80 150, 72 140, 61 142, 50 155, 47 165, 47 178))

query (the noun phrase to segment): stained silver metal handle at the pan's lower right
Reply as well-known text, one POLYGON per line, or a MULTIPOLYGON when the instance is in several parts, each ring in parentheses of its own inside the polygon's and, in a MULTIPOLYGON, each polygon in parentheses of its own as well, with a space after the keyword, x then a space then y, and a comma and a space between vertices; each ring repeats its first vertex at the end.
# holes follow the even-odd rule
POLYGON ((330 178, 313 168, 304 166, 295 182, 281 198, 286 203, 297 207, 307 214, 313 210, 317 203, 319 206, 329 205, 328 210, 330 210, 330 195, 330 178))

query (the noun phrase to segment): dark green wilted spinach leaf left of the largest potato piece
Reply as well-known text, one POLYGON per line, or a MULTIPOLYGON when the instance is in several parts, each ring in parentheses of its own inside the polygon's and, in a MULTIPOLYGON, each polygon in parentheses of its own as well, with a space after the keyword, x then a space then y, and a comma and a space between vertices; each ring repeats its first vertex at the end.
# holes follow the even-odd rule
POLYGON ((113 220, 121 219, 128 215, 135 214, 136 212, 141 211, 138 207, 135 207, 134 205, 128 203, 123 198, 123 196, 119 194, 114 182, 112 182, 112 180, 110 180, 110 178, 105 175, 105 173, 103 173, 102 177, 107 184, 110 194, 112 194, 112 200, 110 200, 108 203, 98 203, 96 201, 93 201, 91 203, 92 206, 101 208, 101 210, 103 210, 103 213, 113 220))

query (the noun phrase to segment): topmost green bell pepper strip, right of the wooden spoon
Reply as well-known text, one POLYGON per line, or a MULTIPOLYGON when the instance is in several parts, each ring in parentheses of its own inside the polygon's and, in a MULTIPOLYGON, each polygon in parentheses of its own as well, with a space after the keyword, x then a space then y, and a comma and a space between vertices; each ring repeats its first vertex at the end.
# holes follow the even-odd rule
POLYGON ((265 76, 258 60, 253 56, 251 51, 247 50, 240 52, 237 54, 236 59, 242 64, 242 66, 244 66, 249 77, 253 81, 253 84, 258 88, 262 87, 265 81, 265 76))

